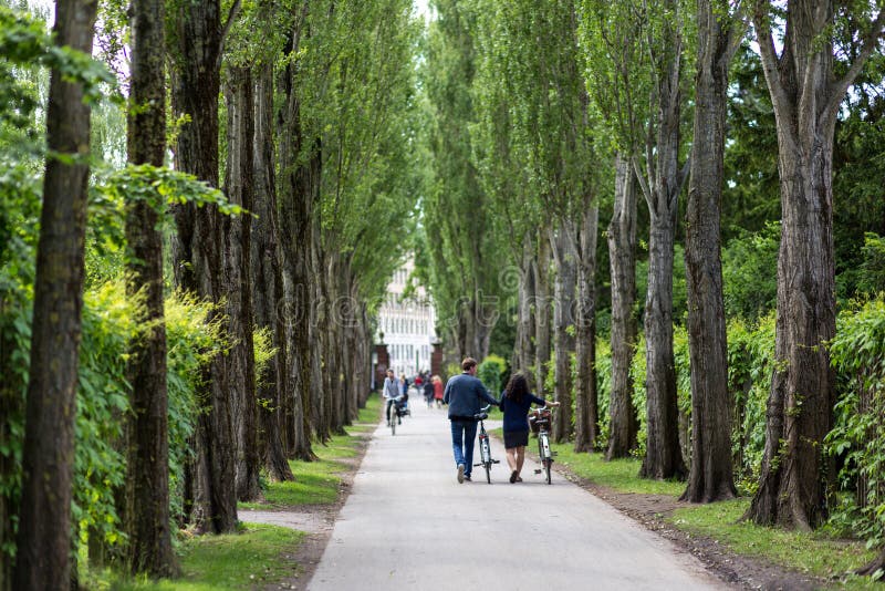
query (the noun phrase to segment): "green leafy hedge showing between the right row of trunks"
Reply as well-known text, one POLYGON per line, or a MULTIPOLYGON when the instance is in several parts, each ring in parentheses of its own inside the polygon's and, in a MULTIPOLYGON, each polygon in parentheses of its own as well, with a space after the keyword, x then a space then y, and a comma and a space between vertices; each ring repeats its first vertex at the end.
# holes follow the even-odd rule
MULTIPOLYGON (((732 454, 735 476, 741 492, 756 491, 766 438, 766 405, 774 360, 775 315, 754 323, 728 323, 729 391, 732 396, 732 454)), ((841 467, 832 491, 831 526, 871 545, 885 542, 885 299, 857 304, 840 312, 836 336, 830 345, 836 372, 834 428, 825 452, 841 467)), ((691 393, 688 336, 674 330, 680 436, 688 456, 691 393)), ((596 343, 596 379, 600 405, 598 448, 610 433, 611 349, 596 343)), ((635 454, 645 454, 645 341, 641 338, 631 365, 633 402, 639 418, 639 443, 635 454)))

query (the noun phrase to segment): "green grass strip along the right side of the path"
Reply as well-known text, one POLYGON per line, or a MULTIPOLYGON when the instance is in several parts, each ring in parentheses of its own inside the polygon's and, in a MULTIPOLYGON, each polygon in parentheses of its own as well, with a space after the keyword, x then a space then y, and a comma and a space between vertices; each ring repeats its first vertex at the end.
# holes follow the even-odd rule
MULTIPOLYGON (((642 462, 635 458, 605 462, 602 454, 575 454, 571 444, 553 444, 552 448, 556 460, 577 476, 620 492, 677 498, 685 490, 685 483, 639 478, 642 462)), ((717 540, 735 553, 764 558, 814 577, 840 579, 833 583, 840 589, 881 589, 868 578, 847 574, 875 557, 862 542, 834 539, 822 531, 803 533, 738 522, 749 504, 750 499, 740 498, 685 507, 674 511, 668 521, 689 533, 717 540)))

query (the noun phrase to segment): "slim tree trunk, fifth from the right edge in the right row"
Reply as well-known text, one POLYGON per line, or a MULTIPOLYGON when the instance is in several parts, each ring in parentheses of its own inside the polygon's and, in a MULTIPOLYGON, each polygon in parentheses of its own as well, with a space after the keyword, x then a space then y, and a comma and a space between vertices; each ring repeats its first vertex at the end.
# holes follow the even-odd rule
POLYGON ((596 394, 596 241, 600 207, 584 206, 577 232, 577 301, 575 315, 574 450, 591 452, 598 436, 596 394))

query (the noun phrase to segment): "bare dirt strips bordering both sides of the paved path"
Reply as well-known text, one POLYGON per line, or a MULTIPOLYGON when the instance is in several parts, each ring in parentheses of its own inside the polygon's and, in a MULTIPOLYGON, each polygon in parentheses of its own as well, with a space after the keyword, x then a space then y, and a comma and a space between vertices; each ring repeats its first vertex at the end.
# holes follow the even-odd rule
MULTIPOLYGON (((299 511, 242 511, 240 518, 246 521, 250 520, 250 514, 252 514, 253 519, 251 520, 294 527, 308 533, 304 542, 299 546, 296 551, 291 554, 287 553, 283 557, 283 559, 299 564, 296 572, 292 577, 268 584, 263 589, 306 588, 332 536, 339 510, 347 500, 354 476, 360 469, 368 446, 369 437, 371 433, 362 436, 358 454, 346 462, 350 469, 342 473, 341 495, 335 504, 299 507, 299 511)), ((689 536, 680 531, 667 522, 666 518, 675 509, 689 506, 687 502, 680 502, 673 497, 662 495, 618 492, 577 477, 563 466, 556 466, 556 469, 572 483, 589 490, 645 528, 663 536, 697 557, 710 572, 732 589, 793 591, 821 589, 832 584, 832 581, 790 571, 762 559, 736 554, 728 551, 716 540, 702 536, 689 536)))

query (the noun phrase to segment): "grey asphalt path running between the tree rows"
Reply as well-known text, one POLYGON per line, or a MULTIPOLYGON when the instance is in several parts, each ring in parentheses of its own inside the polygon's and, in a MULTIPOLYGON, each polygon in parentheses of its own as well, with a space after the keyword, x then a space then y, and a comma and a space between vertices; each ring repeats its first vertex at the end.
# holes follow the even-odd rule
POLYGON ((494 438, 501 463, 492 484, 475 467, 473 481, 459 485, 446 409, 417 396, 410 404, 396 435, 384 421, 375 431, 308 589, 725 588, 690 554, 579 486, 558 474, 548 485, 537 463, 527 460, 524 481, 510 484, 494 438))

